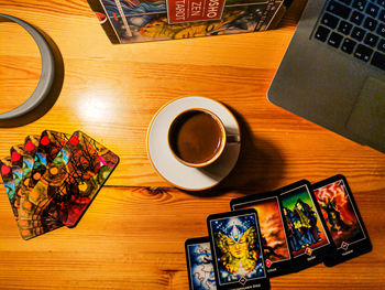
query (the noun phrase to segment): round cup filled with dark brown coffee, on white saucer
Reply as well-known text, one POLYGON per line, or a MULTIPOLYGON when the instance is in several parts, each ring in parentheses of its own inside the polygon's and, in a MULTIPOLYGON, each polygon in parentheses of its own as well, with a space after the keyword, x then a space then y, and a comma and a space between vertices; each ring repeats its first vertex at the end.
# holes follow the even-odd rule
POLYGON ((205 167, 216 161, 226 144, 221 120, 205 109, 189 109, 178 115, 168 130, 174 155, 189 167, 205 167))

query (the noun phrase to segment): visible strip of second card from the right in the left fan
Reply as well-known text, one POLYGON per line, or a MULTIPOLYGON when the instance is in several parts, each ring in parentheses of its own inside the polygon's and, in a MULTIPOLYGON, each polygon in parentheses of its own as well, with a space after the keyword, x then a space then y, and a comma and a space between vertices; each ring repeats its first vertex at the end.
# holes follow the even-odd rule
POLYGON ((37 184, 46 168, 51 165, 63 146, 69 140, 69 137, 67 133, 51 130, 43 131, 31 173, 30 189, 37 184))

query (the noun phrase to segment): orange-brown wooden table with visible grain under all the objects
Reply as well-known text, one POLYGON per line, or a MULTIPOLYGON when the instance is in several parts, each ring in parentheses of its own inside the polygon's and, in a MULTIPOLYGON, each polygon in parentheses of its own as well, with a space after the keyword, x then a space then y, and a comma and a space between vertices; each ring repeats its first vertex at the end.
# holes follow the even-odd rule
MULTIPOLYGON (((272 289, 385 289, 385 155, 270 104, 267 87, 305 1, 268 32, 112 45, 86 0, 0 0, 0 12, 43 29, 58 45, 65 79, 41 119, 0 129, 0 157, 29 133, 84 130, 121 163, 77 227, 24 241, 0 189, 0 289, 188 289, 184 241, 207 235, 206 217, 235 196, 299 179, 344 174, 373 251, 271 280, 272 289), (147 159, 152 116, 183 96, 222 101, 237 115, 243 148, 217 190, 172 187, 147 159)), ((22 29, 0 25, 0 111, 20 105, 40 77, 37 47, 22 29)))

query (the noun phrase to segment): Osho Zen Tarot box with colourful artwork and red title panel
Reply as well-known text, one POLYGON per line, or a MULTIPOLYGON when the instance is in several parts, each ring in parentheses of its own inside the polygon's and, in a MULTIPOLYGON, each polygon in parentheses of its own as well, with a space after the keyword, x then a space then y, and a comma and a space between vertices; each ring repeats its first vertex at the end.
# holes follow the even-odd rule
POLYGON ((274 28, 284 0, 87 0, 110 41, 177 40, 274 28))

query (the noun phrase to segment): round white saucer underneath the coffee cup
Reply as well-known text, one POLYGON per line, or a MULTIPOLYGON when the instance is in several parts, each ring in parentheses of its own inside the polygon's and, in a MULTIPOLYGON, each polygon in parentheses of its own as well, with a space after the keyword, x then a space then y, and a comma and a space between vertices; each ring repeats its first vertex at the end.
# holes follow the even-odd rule
POLYGON ((217 185, 234 168, 241 142, 228 143, 221 157, 206 168, 180 163, 168 147, 168 128, 177 115, 191 108, 212 111, 221 119, 228 135, 241 135, 235 117, 222 104, 204 97, 185 97, 166 104, 155 114, 147 130, 147 153, 157 173, 166 181, 183 190, 202 191, 217 185))

